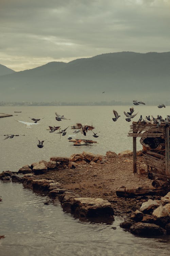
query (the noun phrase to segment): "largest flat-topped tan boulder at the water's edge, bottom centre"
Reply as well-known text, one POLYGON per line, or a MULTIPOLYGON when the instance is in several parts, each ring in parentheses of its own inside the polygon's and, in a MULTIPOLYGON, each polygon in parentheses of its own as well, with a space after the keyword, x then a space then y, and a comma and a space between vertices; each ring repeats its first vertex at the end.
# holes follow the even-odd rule
POLYGON ((107 200, 102 198, 72 198, 71 209, 83 217, 113 216, 114 210, 107 200))

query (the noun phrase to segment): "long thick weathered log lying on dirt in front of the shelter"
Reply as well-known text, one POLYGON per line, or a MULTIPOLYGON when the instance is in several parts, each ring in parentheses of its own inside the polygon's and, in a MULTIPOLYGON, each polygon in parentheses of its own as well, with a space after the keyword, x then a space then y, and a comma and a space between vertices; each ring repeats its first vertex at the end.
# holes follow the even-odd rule
POLYGON ((119 197, 136 197, 136 196, 153 196, 153 195, 166 195, 167 190, 164 188, 126 188, 119 187, 116 189, 116 195, 119 197))

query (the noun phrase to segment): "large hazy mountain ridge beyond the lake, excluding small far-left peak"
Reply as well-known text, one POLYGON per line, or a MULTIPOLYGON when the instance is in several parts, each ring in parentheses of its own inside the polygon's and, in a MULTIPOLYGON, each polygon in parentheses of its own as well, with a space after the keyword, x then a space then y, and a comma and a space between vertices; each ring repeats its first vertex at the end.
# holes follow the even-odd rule
POLYGON ((1 76, 1 100, 169 100, 170 52, 101 54, 1 76), (102 94, 105 91, 105 94, 102 94))

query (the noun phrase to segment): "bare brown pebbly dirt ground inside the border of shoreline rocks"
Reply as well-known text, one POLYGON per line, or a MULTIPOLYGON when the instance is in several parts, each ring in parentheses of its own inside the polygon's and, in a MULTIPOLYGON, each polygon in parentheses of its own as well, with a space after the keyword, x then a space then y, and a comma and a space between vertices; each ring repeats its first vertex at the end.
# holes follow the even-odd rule
MULTIPOLYGON (((70 189, 80 197, 94 197, 107 199, 112 202, 115 215, 128 216, 141 203, 153 198, 153 196, 138 198, 120 198, 116 195, 116 189, 121 186, 127 188, 152 187, 152 181, 147 173, 133 173, 133 157, 129 155, 105 157, 106 162, 96 163, 93 166, 83 165, 75 169, 60 169, 38 175, 39 179, 53 179, 61 183, 65 189, 70 189)), ((143 162, 143 157, 137 158, 137 165, 143 162)))

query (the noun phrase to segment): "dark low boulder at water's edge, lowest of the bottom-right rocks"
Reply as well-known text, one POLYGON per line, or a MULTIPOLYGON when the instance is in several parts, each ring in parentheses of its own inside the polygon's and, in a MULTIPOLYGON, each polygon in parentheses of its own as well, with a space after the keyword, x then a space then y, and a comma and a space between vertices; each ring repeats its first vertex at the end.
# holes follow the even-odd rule
POLYGON ((130 232, 140 236, 160 236, 165 234, 166 230, 153 223, 138 222, 130 227, 130 232))

